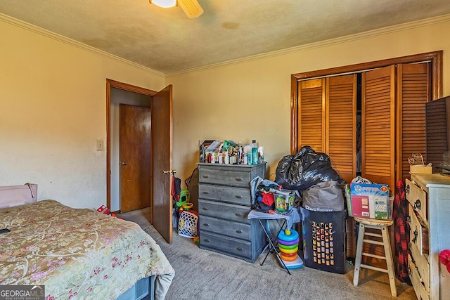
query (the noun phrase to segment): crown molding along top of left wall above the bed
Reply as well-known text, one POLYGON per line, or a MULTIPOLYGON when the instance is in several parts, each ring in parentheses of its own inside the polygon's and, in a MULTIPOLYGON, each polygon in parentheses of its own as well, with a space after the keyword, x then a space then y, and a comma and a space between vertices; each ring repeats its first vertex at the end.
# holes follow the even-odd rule
POLYGON ((4 13, 0 13, 0 21, 8 23, 8 24, 16 26, 16 27, 20 27, 20 28, 22 28, 24 30, 28 30, 30 32, 34 32, 36 34, 40 34, 40 35, 42 35, 44 37, 48 37, 50 39, 55 39, 56 41, 60 41, 61 43, 68 44, 68 45, 73 46, 75 48, 80 48, 80 49, 82 49, 84 51, 88 51, 88 52, 94 53, 94 54, 96 54, 98 56, 103 56, 105 58, 108 58, 108 59, 111 59, 111 60, 115 60, 115 61, 117 61, 119 63, 124 63, 126 65, 130 65, 131 67, 139 68, 139 69, 141 69, 143 71, 153 73, 153 74, 158 75, 160 77, 165 77, 165 74, 162 73, 162 72, 155 71, 153 69, 150 69, 149 67, 144 67, 143 65, 139 65, 138 63, 133 63, 130 60, 126 60, 124 58, 121 58, 119 56, 115 56, 114 54, 108 53, 108 52, 100 50, 98 48, 94 48, 94 47, 88 46, 86 44, 80 43, 79 41, 75 41, 74 39, 70 39, 68 37, 64 37, 63 35, 57 34, 55 32, 51 32, 49 30, 44 30, 44 28, 37 27, 37 26, 32 25, 32 24, 27 23, 27 22, 23 22, 22 20, 18 20, 18 19, 13 18, 13 17, 11 17, 9 15, 5 15, 4 13))

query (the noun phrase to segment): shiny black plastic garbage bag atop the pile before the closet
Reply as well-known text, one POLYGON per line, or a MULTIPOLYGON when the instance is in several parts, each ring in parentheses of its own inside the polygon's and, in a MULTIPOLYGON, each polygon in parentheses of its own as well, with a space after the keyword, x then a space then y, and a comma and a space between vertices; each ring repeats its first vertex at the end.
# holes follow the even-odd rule
POLYGON ((303 146, 295 155, 285 155, 276 167, 276 183, 287 190, 306 190, 325 181, 344 183, 331 167, 330 157, 303 146))

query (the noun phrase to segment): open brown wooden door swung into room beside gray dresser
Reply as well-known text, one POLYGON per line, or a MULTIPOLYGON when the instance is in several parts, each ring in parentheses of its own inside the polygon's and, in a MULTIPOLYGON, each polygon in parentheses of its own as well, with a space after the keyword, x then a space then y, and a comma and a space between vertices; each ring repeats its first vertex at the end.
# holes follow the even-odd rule
POLYGON ((153 96, 152 107, 152 216, 150 222, 169 243, 172 242, 172 85, 153 96))

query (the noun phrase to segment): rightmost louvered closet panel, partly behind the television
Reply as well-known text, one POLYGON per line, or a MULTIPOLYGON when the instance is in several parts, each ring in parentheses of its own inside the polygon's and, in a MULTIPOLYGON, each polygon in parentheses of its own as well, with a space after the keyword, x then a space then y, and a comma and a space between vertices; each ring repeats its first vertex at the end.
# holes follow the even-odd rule
POLYGON ((426 159, 425 103, 430 101, 430 84, 430 63, 397 65, 397 180, 409 178, 412 153, 426 159))

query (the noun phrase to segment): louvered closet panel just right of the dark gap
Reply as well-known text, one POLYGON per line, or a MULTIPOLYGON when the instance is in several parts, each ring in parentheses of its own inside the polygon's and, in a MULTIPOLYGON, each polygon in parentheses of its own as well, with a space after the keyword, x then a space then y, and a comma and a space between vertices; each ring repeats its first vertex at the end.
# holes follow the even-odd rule
POLYGON ((362 74, 361 176, 395 188, 395 67, 362 74))

